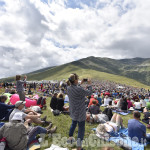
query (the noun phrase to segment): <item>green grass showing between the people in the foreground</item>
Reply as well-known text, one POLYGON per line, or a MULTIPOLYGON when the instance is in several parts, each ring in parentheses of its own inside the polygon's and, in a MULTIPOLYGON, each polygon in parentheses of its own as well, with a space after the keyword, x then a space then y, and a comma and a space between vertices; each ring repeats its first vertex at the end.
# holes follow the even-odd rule
MULTIPOLYGON (((3 91, 4 91, 3 89, 0 89, 0 94, 3 93, 3 91)), ((57 145, 60 144, 61 146, 66 147, 67 145, 64 144, 65 143, 64 141, 66 141, 66 139, 68 138, 69 128, 71 125, 71 118, 69 115, 63 115, 63 114, 60 114, 59 116, 54 116, 52 114, 52 112, 50 111, 50 107, 49 107, 50 99, 51 99, 51 97, 47 97, 47 109, 43 110, 42 117, 47 116, 47 120, 52 121, 53 126, 57 126, 56 134, 60 134, 61 138, 58 138, 58 140, 56 140, 56 142, 57 142, 56 144, 57 145)), ((101 110, 103 110, 103 109, 104 108, 101 107, 101 110)), ((123 118, 123 124, 125 127, 127 127, 128 120, 133 118, 132 114, 129 114, 127 116, 121 116, 121 117, 123 118)), ((143 114, 142 114, 141 118, 143 118, 143 114)), ((91 139, 91 137, 93 137, 90 140, 90 144, 94 144, 96 141, 97 142, 100 141, 95 136, 94 132, 91 130, 92 128, 96 128, 97 125, 98 124, 90 124, 90 123, 86 122, 84 139, 91 139)), ((150 133, 150 129, 147 129, 147 133, 150 133)), ((77 138, 77 134, 78 134, 78 130, 76 129, 75 133, 74 133, 75 138, 77 138)), ((50 135, 47 135, 45 137, 44 143, 41 144, 41 150, 44 150, 45 148, 49 148, 51 146, 51 144, 55 144, 53 139, 54 138, 52 138, 50 135)), ((112 146, 112 147, 114 147, 115 150, 121 150, 121 148, 118 146, 115 146, 114 143, 108 143, 108 142, 104 142, 104 141, 102 141, 102 143, 98 146, 95 146, 95 145, 93 145, 93 147, 92 146, 84 146, 84 149, 85 150, 100 150, 101 149, 100 146, 101 147, 112 146)), ((75 146, 73 146, 73 147, 75 147, 75 146)), ((69 147, 69 149, 71 150, 71 149, 73 149, 73 147, 69 147)), ((149 150, 150 146, 147 146, 145 149, 149 150)))

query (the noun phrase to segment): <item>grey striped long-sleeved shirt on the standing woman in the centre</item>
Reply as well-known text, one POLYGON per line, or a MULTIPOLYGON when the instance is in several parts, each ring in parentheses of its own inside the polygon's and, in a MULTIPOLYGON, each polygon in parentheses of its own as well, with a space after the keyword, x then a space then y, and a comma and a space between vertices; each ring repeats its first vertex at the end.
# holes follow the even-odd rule
POLYGON ((92 95, 92 87, 89 86, 89 90, 84 88, 71 85, 67 87, 67 94, 69 97, 69 111, 70 117, 74 121, 85 121, 86 120, 86 106, 85 96, 92 95))

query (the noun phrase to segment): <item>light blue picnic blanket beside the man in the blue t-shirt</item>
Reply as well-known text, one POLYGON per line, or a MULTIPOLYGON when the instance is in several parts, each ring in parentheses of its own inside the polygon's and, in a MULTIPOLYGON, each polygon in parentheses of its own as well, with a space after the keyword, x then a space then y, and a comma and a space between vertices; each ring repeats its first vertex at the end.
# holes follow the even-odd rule
MULTIPOLYGON (((92 130, 95 130, 95 128, 93 128, 92 130)), ((98 134, 96 134, 96 135, 99 138, 101 138, 100 135, 98 135, 98 134)), ((132 141, 128 137, 128 128, 120 129, 118 134, 116 134, 114 137, 111 136, 108 139, 108 142, 110 142, 110 141, 113 141, 114 143, 116 143, 120 147, 126 147, 127 149, 131 149, 131 150, 144 150, 144 146, 149 144, 149 143, 140 144, 140 143, 132 141)))

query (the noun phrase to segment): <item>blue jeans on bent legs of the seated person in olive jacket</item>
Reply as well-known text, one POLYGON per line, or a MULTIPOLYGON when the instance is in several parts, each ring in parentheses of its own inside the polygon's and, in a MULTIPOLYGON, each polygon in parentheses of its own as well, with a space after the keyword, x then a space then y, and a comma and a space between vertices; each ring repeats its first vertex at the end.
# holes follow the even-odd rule
POLYGON ((45 129, 45 128, 42 128, 42 127, 40 127, 40 126, 36 126, 36 127, 34 127, 30 132, 29 132, 29 140, 28 140, 28 145, 32 142, 32 141, 34 141, 34 140, 36 140, 36 136, 38 135, 38 134, 41 134, 41 133, 47 133, 47 130, 45 129))

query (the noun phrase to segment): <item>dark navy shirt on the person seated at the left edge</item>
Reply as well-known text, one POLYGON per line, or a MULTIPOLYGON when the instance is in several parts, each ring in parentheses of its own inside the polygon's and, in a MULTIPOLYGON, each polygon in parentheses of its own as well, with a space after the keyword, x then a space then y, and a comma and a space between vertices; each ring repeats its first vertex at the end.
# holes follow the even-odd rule
POLYGON ((15 105, 7 105, 5 103, 0 102, 0 119, 3 119, 9 112, 9 109, 12 108, 15 108, 15 105))

